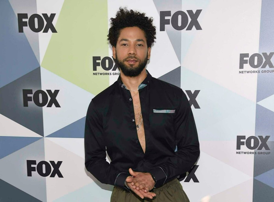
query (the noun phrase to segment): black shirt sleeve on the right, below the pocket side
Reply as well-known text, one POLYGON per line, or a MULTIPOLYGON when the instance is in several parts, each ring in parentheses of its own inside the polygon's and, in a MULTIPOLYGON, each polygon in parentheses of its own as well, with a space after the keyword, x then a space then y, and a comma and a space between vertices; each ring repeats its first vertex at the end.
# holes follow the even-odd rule
POLYGON ((166 179, 176 177, 191 169, 197 161, 200 150, 197 129, 188 99, 183 91, 174 120, 177 151, 174 156, 149 171, 155 178, 155 187, 162 186, 166 179))

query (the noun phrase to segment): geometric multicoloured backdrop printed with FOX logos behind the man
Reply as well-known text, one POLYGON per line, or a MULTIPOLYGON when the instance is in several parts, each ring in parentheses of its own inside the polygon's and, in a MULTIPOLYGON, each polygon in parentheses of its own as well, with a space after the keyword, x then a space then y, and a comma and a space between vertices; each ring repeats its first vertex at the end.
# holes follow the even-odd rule
POLYGON ((84 124, 120 74, 107 42, 120 6, 153 17, 147 70, 191 104, 190 201, 274 201, 272 0, 1 0, 0 201, 110 200, 85 169, 84 124))

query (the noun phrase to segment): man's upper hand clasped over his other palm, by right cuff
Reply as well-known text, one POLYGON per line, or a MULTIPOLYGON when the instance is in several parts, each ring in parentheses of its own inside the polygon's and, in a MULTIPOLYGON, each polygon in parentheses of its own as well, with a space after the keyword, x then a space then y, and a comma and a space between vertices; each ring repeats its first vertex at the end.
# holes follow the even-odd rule
POLYGON ((147 193, 149 190, 153 189, 155 182, 152 179, 150 173, 144 172, 135 172, 129 168, 130 175, 135 178, 131 182, 133 189, 141 190, 144 189, 144 192, 147 193))

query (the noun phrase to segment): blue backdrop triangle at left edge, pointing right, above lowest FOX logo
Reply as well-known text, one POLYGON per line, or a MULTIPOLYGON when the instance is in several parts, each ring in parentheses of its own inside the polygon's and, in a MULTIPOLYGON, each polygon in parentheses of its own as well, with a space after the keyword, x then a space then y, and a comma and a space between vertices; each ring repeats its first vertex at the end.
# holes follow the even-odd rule
POLYGON ((33 142, 36 142, 39 139, 41 138, 0 136, 0 159, 30 145, 33 142))

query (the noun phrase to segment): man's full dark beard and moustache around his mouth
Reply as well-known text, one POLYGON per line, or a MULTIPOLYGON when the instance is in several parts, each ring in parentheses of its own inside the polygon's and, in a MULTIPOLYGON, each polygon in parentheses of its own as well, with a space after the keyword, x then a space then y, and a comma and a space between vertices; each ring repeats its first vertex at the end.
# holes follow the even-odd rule
POLYGON ((142 70, 146 67, 147 64, 147 54, 144 60, 140 60, 139 58, 135 57, 135 56, 128 56, 127 58, 125 58, 124 60, 119 60, 117 57, 117 53, 116 53, 116 63, 120 69, 120 71, 123 72, 123 74, 125 74, 125 76, 128 77, 136 77, 139 76, 142 72, 142 70), (139 65, 137 67, 133 67, 134 64, 129 64, 128 66, 125 64, 125 61, 128 59, 135 59, 139 61, 139 65))

